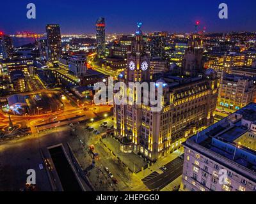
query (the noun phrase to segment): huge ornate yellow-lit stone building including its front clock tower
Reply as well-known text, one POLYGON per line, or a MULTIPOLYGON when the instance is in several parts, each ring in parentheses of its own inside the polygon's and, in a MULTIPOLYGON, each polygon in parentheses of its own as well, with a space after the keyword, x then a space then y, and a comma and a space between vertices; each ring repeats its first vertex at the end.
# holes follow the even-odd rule
MULTIPOLYGON (((152 78, 150 55, 145 52, 140 29, 136 32, 135 48, 128 53, 125 75, 120 75, 118 80, 125 84, 155 82, 157 86, 163 83, 163 109, 152 112, 152 105, 144 105, 143 101, 142 105, 114 104, 115 137, 123 146, 124 141, 132 143, 133 152, 156 161, 213 123, 219 80, 213 70, 207 70, 201 77, 179 77, 163 72, 152 78), (145 68, 142 64, 148 66, 145 68)), ((133 93, 129 98, 135 100, 138 96, 133 93)))

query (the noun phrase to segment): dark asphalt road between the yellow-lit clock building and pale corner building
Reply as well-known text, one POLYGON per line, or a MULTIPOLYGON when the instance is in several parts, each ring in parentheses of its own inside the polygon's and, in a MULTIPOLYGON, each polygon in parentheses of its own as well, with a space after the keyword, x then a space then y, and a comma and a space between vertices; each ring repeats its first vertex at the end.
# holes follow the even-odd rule
POLYGON ((164 173, 158 175, 157 173, 153 173, 156 176, 144 182, 144 184, 151 191, 160 191, 165 186, 173 182, 173 180, 177 179, 180 175, 182 175, 183 159, 177 157, 176 159, 164 166, 167 168, 164 173))

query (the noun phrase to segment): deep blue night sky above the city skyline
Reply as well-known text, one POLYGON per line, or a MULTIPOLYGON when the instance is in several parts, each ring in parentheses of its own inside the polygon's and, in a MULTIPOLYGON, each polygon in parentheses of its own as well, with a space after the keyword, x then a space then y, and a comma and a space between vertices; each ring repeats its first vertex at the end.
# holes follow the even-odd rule
POLYGON ((207 32, 256 31, 255 0, 9 0, 1 1, 0 30, 45 33, 46 24, 60 24, 62 34, 95 33, 98 17, 106 18, 107 33, 193 31, 200 20, 207 32), (36 19, 26 18, 26 5, 36 4, 36 19), (228 19, 218 18, 218 5, 228 4, 228 19))

